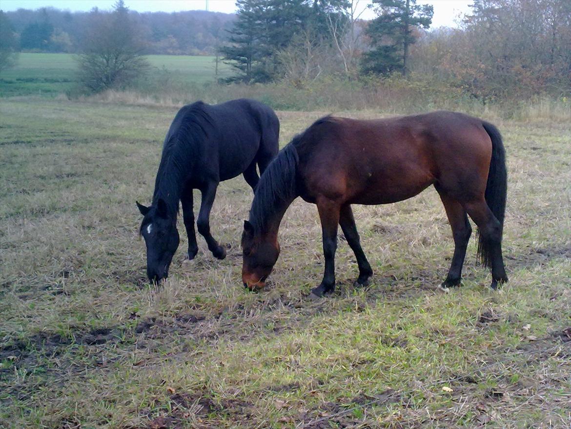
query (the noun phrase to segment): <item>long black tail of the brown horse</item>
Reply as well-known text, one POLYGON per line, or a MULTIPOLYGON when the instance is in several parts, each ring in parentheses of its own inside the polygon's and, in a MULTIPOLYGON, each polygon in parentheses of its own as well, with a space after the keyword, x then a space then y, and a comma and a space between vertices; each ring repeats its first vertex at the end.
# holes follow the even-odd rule
MULTIPOLYGON (((482 122, 482 126, 484 126, 490 139, 492 139, 492 160, 490 161, 485 198, 488 207, 492 210, 496 219, 500 221, 501 233, 504 230, 505 201, 508 190, 508 172, 505 168, 504 144, 500 132, 494 125, 489 124, 489 122, 482 122)), ((491 268, 490 246, 488 241, 482 239, 480 234, 478 234, 478 256, 483 265, 491 268)))

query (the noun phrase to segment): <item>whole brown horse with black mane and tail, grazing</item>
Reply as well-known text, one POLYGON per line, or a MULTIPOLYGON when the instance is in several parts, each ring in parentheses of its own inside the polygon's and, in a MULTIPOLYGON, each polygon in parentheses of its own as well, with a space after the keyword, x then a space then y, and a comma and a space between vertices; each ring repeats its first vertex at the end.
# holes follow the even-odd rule
POLYGON ((262 174, 242 236, 244 287, 262 288, 280 247, 278 229, 288 206, 301 196, 317 205, 323 231, 325 273, 312 294, 335 289, 337 225, 355 252, 356 285, 372 275, 351 204, 388 204, 434 185, 452 227, 455 250, 443 288, 460 284, 472 228, 478 255, 492 269, 491 287, 508 281, 502 260, 507 174, 500 133, 488 122, 454 112, 384 120, 325 117, 278 154, 262 174))

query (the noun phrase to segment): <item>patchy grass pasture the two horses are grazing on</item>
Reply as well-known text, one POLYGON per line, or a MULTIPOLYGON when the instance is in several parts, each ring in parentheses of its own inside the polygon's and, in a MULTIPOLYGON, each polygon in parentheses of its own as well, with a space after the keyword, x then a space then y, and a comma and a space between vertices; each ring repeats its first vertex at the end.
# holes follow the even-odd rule
MULTIPOLYGON (((252 192, 224 182, 215 260, 149 287, 135 200, 148 203, 176 108, 5 98, 0 104, 0 426, 9 428, 566 428, 571 382, 568 122, 494 122, 508 154, 505 260, 488 289, 433 189, 355 208, 375 275, 355 289, 343 239, 337 292, 315 206, 296 201, 271 285, 241 285, 252 192)), ((281 144, 327 112, 279 112, 281 144)), ((379 117, 378 112, 345 112, 379 117)), ((197 196, 198 197, 198 196, 197 196)), ((195 198, 195 201, 198 198, 195 198)), ((198 208, 197 208, 198 209, 198 208)))

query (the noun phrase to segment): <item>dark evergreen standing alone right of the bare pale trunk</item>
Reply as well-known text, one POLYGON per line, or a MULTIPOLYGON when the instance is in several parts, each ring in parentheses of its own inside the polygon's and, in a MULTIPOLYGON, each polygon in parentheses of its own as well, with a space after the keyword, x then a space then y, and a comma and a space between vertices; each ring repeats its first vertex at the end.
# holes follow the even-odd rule
POLYGON ((413 30, 428 29, 432 5, 417 5, 416 0, 373 0, 379 14, 367 27, 373 49, 363 55, 365 73, 388 74, 408 71, 408 49, 415 43, 413 30))

